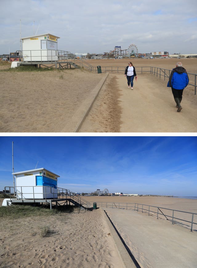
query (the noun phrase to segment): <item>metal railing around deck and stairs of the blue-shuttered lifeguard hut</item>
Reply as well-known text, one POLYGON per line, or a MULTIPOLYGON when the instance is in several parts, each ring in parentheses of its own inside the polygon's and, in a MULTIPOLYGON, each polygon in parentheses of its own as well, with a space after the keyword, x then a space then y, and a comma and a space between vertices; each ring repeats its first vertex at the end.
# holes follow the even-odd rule
POLYGON ((71 192, 70 190, 52 187, 52 186, 6 186, 5 193, 9 191, 10 202, 12 201, 12 195, 16 195, 18 200, 45 200, 47 199, 70 199, 78 206, 90 207, 90 202, 87 202, 85 199, 82 199, 80 196, 71 192), (29 188, 29 189, 28 189, 29 188), (9 190, 8 190, 9 189, 9 190), (38 196, 42 195, 42 197, 38 196))

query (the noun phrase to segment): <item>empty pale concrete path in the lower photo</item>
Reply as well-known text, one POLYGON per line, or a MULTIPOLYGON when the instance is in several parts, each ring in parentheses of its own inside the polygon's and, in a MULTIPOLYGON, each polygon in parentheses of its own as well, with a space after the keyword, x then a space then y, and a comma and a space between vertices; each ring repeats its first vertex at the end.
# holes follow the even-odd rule
POLYGON ((141 267, 196 267, 196 232, 137 211, 104 211, 141 267))

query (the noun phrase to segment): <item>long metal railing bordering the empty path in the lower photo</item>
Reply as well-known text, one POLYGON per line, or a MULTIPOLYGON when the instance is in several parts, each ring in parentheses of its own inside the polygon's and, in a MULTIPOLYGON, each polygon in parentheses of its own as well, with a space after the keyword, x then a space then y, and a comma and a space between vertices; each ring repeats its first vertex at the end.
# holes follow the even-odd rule
POLYGON ((164 207, 156 207, 139 203, 116 203, 116 202, 97 202, 97 207, 110 207, 126 210, 141 211, 148 216, 155 216, 157 219, 169 220, 172 224, 178 224, 192 231, 197 232, 194 225, 197 225, 197 213, 175 210, 164 207), (190 225, 188 225, 190 224, 190 225))

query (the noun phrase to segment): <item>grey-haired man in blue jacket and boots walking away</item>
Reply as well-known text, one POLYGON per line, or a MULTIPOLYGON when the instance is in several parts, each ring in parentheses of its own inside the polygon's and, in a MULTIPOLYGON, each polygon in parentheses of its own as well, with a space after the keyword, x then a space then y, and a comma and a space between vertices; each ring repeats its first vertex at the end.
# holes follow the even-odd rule
POLYGON ((176 68, 171 71, 169 78, 169 86, 172 88, 172 94, 176 102, 177 112, 182 110, 181 101, 183 89, 188 85, 189 77, 186 69, 182 67, 181 62, 177 62, 176 68))

